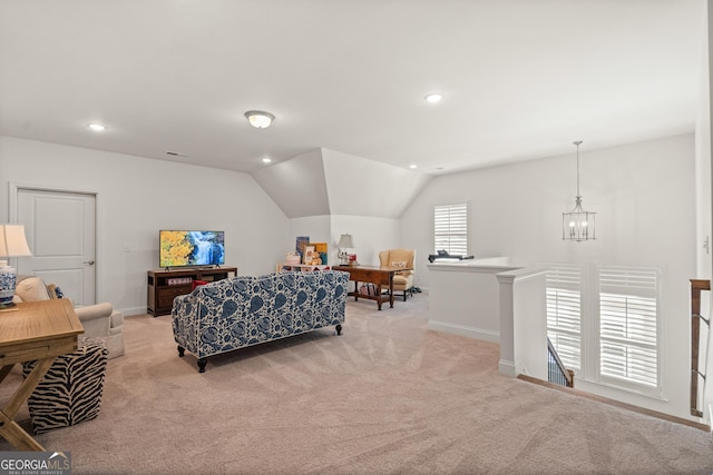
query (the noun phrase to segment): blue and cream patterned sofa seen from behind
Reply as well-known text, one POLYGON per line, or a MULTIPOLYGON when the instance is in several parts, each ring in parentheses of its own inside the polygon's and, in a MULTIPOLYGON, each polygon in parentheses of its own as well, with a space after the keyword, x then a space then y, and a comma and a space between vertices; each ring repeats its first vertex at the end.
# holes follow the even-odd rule
POLYGON ((338 270, 238 276, 196 287, 174 299, 178 356, 207 358, 335 325, 341 335, 349 274, 338 270))

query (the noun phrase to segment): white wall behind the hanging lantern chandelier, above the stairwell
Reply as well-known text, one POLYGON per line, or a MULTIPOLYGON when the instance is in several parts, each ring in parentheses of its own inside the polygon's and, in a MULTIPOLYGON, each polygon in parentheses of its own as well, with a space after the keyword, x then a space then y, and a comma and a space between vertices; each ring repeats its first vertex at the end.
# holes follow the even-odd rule
POLYGON ((671 402, 628 400, 686 417, 688 279, 696 273, 694 136, 599 150, 586 145, 580 148, 580 189, 584 208, 597 212, 596 241, 561 240, 561 212, 574 207, 576 194, 574 146, 569 156, 442 176, 426 187, 400 224, 404 246, 420 256, 417 285, 428 287, 433 205, 462 200, 471 204, 471 253, 477 257, 509 256, 514 266, 573 261, 661 267, 671 402))

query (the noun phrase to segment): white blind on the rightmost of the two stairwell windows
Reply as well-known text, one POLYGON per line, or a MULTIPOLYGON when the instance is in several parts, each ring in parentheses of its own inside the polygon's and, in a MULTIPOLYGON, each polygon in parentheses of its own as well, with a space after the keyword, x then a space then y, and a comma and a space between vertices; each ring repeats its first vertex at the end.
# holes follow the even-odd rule
POLYGON ((658 386, 658 269, 599 269, 599 374, 658 386))

